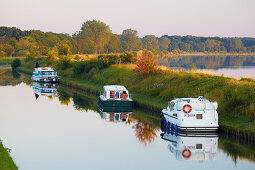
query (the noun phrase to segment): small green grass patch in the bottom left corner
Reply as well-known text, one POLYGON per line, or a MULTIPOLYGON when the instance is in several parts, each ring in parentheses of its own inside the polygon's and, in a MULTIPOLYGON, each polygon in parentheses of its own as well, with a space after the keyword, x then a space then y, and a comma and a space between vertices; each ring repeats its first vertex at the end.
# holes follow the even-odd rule
POLYGON ((2 170, 15 170, 18 167, 13 162, 9 155, 8 149, 4 148, 2 142, 0 142, 0 169, 2 170))

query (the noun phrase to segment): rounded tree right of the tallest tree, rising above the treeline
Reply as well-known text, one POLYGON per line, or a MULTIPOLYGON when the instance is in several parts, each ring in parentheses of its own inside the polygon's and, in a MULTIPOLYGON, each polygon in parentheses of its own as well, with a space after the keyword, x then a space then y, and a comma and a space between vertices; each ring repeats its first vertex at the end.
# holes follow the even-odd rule
POLYGON ((141 40, 138 39, 137 35, 138 32, 136 30, 123 30, 120 40, 124 51, 138 51, 141 49, 141 40))

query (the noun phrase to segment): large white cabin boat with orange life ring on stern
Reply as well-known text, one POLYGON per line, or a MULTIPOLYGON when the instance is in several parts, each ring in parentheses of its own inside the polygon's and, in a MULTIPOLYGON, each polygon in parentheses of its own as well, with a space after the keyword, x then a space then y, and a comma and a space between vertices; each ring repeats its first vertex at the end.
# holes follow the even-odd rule
POLYGON ((162 110, 161 121, 168 129, 178 132, 216 132, 218 104, 198 98, 177 98, 162 110))

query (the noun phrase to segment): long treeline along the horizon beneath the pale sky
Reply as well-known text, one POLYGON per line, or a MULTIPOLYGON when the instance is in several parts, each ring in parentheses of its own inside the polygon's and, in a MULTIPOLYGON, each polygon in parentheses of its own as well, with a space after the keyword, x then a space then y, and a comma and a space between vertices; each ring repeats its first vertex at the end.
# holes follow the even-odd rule
POLYGON ((138 37, 132 29, 113 34, 101 21, 87 21, 72 36, 39 30, 21 31, 0 27, 0 56, 36 56, 58 54, 69 48, 73 54, 103 54, 147 49, 154 54, 205 52, 254 53, 255 38, 219 38, 195 36, 138 37))

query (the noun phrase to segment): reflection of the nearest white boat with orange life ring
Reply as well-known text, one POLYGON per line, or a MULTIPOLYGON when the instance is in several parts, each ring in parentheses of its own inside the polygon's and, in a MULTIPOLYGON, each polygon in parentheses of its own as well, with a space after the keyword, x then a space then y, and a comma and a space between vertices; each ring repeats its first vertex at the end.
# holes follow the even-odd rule
POLYGON ((161 138, 168 142, 170 152, 177 160, 205 161, 217 159, 217 134, 180 134, 162 129, 161 138))

